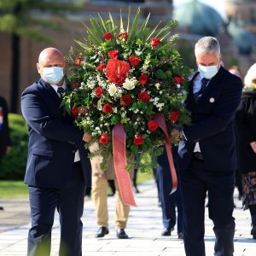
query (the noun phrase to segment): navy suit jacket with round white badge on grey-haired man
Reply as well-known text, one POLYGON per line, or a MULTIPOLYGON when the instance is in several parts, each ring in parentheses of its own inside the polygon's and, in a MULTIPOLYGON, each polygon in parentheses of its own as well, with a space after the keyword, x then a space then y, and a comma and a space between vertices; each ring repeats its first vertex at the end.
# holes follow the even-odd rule
MULTIPOLYGON (((195 74, 196 75, 196 74, 195 74)), ((199 142, 205 166, 212 171, 236 169, 236 137, 234 117, 241 100, 241 79, 220 67, 200 100, 195 102, 193 80, 189 84, 186 108, 191 112, 192 125, 184 127, 187 141, 179 143, 177 166, 188 168, 195 143, 199 142)))

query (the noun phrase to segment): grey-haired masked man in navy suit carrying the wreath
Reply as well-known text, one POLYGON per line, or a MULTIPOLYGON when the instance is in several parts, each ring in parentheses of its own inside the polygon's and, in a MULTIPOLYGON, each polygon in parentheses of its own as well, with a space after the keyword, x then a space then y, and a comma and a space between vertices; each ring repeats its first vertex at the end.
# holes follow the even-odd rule
POLYGON ((233 192, 236 170, 234 115, 241 100, 241 79, 220 65, 216 38, 195 44, 198 65, 189 84, 186 107, 192 125, 172 132, 181 140, 177 167, 183 198, 183 236, 186 255, 205 256, 204 218, 208 192, 209 218, 214 224, 215 253, 234 252, 233 192))

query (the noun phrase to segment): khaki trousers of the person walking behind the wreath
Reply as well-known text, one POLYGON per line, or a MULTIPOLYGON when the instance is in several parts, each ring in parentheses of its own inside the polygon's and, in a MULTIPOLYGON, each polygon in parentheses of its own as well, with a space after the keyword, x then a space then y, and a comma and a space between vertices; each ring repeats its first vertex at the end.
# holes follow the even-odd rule
MULTIPOLYGON (((123 204, 116 179, 114 183, 116 188, 115 228, 116 230, 125 229, 130 207, 123 204)), ((108 180, 106 177, 92 177, 91 198, 96 207, 96 224, 108 228, 108 180)))

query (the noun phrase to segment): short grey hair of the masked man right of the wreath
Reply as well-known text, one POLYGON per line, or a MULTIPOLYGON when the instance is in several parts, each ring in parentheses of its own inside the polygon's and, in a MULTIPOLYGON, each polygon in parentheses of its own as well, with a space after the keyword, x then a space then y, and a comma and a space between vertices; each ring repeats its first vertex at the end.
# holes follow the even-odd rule
POLYGON ((205 55, 215 53, 216 55, 220 55, 218 40, 213 37, 204 37, 199 39, 195 44, 195 55, 198 53, 205 55))

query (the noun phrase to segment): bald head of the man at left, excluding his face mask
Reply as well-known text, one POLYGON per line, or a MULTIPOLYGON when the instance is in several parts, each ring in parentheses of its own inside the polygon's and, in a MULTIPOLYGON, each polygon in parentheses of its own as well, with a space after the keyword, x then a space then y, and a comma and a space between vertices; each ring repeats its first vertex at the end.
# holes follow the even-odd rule
MULTIPOLYGON (((59 49, 49 47, 44 49, 38 57, 38 73, 42 79, 44 79, 44 70, 47 67, 62 67, 65 68, 64 56, 59 49)), ((44 79, 45 81, 45 79, 44 79)), ((58 85, 63 84, 63 79, 58 83, 58 85)))

